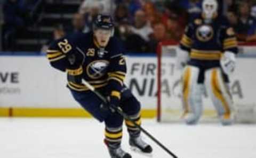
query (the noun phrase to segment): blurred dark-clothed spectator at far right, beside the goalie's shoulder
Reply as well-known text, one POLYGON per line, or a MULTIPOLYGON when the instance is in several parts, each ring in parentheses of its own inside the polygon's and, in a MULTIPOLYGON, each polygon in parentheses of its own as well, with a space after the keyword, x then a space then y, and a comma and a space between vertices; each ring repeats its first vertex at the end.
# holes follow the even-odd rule
POLYGON ((250 6, 248 3, 241 2, 238 11, 237 38, 239 41, 246 41, 248 30, 252 27, 254 19, 250 16, 250 6))

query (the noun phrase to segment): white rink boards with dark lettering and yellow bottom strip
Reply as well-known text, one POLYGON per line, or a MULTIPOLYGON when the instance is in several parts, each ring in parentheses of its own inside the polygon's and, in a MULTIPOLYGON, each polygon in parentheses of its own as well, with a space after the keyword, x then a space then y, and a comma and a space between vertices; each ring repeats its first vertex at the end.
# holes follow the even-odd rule
MULTIPOLYGON (((142 105, 143 117, 156 116, 155 55, 127 55, 125 83, 142 105)), ((239 104, 255 104, 255 57, 241 57, 231 80, 231 93, 239 104)), ((166 82, 163 83, 165 102, 173 109, 180 108, 175 58, 162 66, 166 82)), ((213 109, 206 98, 206 109, 213 109)), ((44 55, 0 56, 0 116, 28 117, 90 117, 71 97, 66 87, 66 74, 50 67, 44 55)))

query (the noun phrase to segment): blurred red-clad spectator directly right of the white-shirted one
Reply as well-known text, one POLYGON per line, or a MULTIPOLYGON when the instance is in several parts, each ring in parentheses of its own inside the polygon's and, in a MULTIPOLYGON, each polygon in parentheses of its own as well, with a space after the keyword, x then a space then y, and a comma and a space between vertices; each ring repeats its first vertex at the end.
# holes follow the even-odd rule
POLYGON ((166 29, 164 24, 156 23, 153 26, 153 38, 149 41, 149 51, 156 52, 158 42, 167 40, 166 29))

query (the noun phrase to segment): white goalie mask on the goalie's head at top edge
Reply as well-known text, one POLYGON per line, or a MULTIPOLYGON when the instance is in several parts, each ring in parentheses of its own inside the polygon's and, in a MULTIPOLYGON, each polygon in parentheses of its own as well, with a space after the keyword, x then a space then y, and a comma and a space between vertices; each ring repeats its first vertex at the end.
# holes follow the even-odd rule
POLYGON ((203 14, 205 19, 211 20, 217 16, 218 2, 216 0, 203 1, 203 14))

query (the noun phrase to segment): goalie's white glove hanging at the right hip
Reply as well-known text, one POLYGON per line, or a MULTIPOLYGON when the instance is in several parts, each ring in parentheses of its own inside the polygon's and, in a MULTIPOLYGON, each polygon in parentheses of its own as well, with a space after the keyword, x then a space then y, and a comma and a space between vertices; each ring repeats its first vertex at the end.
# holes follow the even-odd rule
POLYGON ((230 75, 235 71, 236 55, 231 51, 225 51, 220 59, 220 65, 223 72, 230 75))

